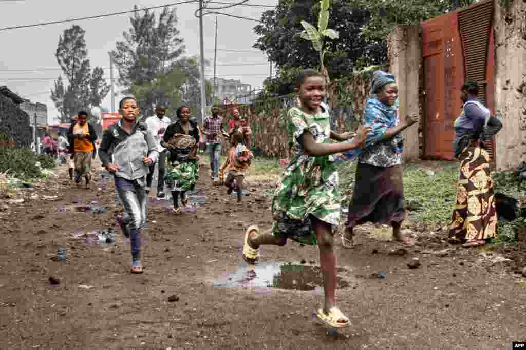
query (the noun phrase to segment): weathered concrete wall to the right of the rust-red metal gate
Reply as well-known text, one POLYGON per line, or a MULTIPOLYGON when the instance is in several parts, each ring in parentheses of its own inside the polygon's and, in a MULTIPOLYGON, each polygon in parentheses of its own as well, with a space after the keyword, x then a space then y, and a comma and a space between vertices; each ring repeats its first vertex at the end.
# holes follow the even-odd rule
POLYGON ((526 2, 495 1, 495 111, 502 130, 495 137, 497 170, 526 161, 526 2))

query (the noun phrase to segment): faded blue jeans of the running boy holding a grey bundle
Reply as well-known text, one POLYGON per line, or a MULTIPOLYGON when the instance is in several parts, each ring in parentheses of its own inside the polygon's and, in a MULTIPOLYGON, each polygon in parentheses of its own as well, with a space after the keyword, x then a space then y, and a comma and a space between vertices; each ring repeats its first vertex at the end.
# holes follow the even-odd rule
POLYGON ((144 183, 144 179, 143 181, 130 181, 115 176, 115 189, 124 206, 123 220, 130 229, 131 258, 133 260, 140 259, 140 228, 145 224, 148 215, 148 197, 141 183, 144 183))

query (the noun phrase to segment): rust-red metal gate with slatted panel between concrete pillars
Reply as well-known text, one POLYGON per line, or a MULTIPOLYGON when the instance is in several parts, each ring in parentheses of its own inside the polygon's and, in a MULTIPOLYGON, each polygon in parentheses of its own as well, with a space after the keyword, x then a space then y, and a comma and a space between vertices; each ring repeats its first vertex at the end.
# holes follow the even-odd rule
POLYGON ((462 110, 464 81, 479 83, 479 98, 494 112, 492 19, 493 2, 487 0, 421 24, 425 158, 453 159, 453 123, 462 110))

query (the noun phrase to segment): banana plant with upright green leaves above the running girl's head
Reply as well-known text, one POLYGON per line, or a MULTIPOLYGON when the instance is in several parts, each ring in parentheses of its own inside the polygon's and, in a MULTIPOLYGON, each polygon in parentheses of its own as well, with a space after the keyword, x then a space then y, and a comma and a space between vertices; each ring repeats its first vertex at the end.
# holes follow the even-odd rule
POLYGON ((323 48, 323 40, 329 38, 331 40, 338 39, 339 34, 334 29, 329 29, 329 0, 320 1, 320 13, 318 15, 318 28, 306 22, 305 20, 301 21, 301 25, 305 28, 304 31, 300 33, 300 37, 305 40, 309 40, 312 43, 312 47, 319 52, 320 55, 320 72, 327 83, 329 83, 329 73, 323 65, 323 58, 325 58, 325 53, 327 50, 323 48))

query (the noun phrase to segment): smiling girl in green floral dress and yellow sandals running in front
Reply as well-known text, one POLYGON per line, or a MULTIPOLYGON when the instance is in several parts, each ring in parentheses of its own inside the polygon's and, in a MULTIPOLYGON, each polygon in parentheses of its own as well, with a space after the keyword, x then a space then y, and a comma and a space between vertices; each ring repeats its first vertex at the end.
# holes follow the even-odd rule
POLYGON ((317 310, 320 320, 331 327, 350 325, 349 319, 336 307, 336 255, 333 236, 337 230, 340 204, 338 171, 332 154, 361 147, 370 128, 354 133, 337 134, 330 130, 325 95, 325 79, 316 70, 304 70, 296 78, 296 91, 301 103, 288 112, 291 138, 291 160, 281 175, 281 185, 272 200, 274 224, 270 232, 250 226, 245 233, 243 258, 254 264, 262 245, 284 246, 287 239, 304 245, 318 245, 323 275, 325 303, 317 310))

